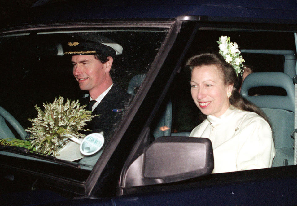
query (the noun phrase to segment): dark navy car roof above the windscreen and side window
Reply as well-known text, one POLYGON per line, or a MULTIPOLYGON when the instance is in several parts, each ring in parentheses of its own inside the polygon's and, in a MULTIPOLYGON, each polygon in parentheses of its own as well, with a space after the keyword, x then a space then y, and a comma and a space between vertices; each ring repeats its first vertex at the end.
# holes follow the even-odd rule
POLYGON ((244 18, 245 21, 248 18, 248 22, 253 22, 253 19, 267 19, 273 23, 296 24, 297 1, 40 0, 23 14, 10 16, 7 22, 8 24, 34 24, 94 19, 170 19, 178 16, 207 16, 213 17, 207 20, 214 21, 225 21, 226 17, 244 18))

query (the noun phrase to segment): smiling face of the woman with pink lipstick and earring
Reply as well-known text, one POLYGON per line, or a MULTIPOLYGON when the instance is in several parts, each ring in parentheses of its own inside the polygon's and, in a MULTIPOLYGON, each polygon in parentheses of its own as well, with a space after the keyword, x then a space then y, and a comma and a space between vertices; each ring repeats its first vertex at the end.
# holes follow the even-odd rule
POLYGON ((219 117, 229 108, 227 92, 233 85, 225 85, 216 65, 195 67, 191 75, 192 98, 205 115, 219 117))

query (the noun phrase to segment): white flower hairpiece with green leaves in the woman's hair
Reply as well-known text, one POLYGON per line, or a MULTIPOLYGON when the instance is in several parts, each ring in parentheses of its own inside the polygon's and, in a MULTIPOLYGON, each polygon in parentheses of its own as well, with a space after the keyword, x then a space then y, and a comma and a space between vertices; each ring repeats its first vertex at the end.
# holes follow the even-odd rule
POLYGON ((224 57, 225 61, 233 66, 235 69, 236 75, 243 73, 243 64, 244 59, 240 55, 239 46, 234 42, 230 42, 230 37, 221 36, 219 41, 219 53, 224 57))

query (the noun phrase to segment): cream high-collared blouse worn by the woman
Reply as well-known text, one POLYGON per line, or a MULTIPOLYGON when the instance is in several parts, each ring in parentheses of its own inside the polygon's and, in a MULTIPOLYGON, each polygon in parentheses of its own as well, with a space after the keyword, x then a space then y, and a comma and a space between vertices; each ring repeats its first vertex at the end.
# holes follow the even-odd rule
POLYGON ((275 156, 269 124, 254 112, 230 106, 220 117, 207 115, 190 137, 209 138, 212 142, 212 173, 271 167, 275 156))

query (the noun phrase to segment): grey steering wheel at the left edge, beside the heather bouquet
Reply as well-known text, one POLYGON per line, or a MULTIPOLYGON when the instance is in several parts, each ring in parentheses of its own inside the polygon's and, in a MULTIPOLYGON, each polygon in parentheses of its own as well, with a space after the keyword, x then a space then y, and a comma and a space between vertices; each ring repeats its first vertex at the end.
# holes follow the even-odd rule
POLYGON ((22 125, 3 107, 0 106, 0 138, 15 138, 11 130, 7 126, 6 122, 9 122, 15 131, 20 135, 23 140, 26 140, 27 132, 24 130, 22 125))

